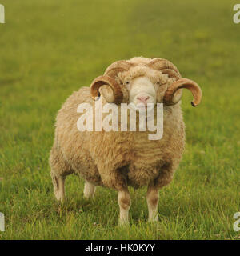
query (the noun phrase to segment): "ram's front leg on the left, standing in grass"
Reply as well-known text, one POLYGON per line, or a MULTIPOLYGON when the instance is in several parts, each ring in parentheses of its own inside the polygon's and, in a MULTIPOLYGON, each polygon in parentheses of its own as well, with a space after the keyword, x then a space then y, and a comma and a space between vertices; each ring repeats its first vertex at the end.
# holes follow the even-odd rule
POLYGON ((128 223, 128 212, 130 209, 131 199, 129 191, 118 191, 118 205, 120 209, 119 225, 128 223))

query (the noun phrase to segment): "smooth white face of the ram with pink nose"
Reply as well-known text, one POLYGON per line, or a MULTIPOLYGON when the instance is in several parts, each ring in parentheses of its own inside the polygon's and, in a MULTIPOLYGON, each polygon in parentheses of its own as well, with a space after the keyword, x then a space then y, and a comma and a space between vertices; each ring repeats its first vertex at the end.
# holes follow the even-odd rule
POLYGON ((140 77, 126 80, 126 88, 129 92, 129 102, 135 106, 145 107, 148 103, 156 104, 156 90, 149 78, 140 77))

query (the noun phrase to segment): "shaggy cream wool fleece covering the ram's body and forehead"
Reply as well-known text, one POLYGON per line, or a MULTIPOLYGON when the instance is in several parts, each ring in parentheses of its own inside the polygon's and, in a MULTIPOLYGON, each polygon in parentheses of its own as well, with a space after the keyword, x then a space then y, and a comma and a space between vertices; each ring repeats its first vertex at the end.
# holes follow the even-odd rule
MULTIPOLYGON (((166 89, 175 78, 169 78, 161 71, 151 70, 146 66, 150 61, 150 58, 142 57, 130 59, 129 62, 134 63, 135 66, 128 71, 118 73, 116 81, 122 84, 126 79, 146 76, 154 83, 156 90, 160 88, 157 98, 158 102, 162 102, 166 89)), ((135 188, 149 186, 158 191, 171 182, 182 158, 185 144, 181 102, 172 106, 164 105, 163 137, 155 141, 148 139, 150 132, 147 130, 146 132, 105 132, 104 130, 80 132, 77 121, 81 114, 77 113, 77 108, 83 102, 92 106, 95 104, 90 95, 90 87, 82 87, 74 92, 58 111, 54 146, 50 152, 51 176, 57 198, 61 199, 64 194, 64 191, 59 192, 60 183, 64 182, 66 175, 72 173, 80 174, 90 184, 106 186, 118 191, 127 191, 127 186, 135 188)), ((106 101, 103 98, 102 104, 104 103, 106 101)), ((105 115, 102 114, 102 119, 104 117, 105 115)), ((88 189, 86 185, 85 190, 94 190, 94 188, 88 189)), ((127 197, 124 199, 129 208, 130 199, 128 200, 127 197)), ((155 195, 153 200, 158 201, 158 196, 155 195)), ((121 208, 121 195, 118 202, 120 211, 121 209, 124 211, 124 204, 121 208)), ((121 214, 124 215, 123 212, 121 214)), ((153 219, 156 218, 155 215, 153 219)), ((126 221, 127 217, 124 216, 122 220, 126 221)))

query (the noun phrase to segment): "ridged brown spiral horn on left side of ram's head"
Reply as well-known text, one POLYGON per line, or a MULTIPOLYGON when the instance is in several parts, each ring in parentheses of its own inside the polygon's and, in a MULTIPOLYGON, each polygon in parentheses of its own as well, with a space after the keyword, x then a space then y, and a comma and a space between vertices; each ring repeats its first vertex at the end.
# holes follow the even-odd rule
POLYGON ((125 87, 120 86, 116 81, 119 72, 127 71, 132 64, 126 61, 118 61, 111 64, 104 75, 95 78, 90 86, 90 94, 95 100, 100 94, 106 99, 106 102, 120 103, 126 102, 128 93, 125 87))

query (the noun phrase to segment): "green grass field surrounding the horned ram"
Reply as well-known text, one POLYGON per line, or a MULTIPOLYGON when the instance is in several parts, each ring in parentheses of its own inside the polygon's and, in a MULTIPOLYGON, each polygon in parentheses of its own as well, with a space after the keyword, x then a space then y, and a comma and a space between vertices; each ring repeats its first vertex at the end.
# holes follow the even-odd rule
POLYGON ((240 239, 239 1, 0 0, 0 239, 240 239), (48 158, 62 102, 133 56, 168 58, 202 87, 185 91, 186 150, 160 191, 157 224, 147 220, 146 188, 130 190, 130 226, 118 227, 117 193, 66 180, 55 202, 48 158))

